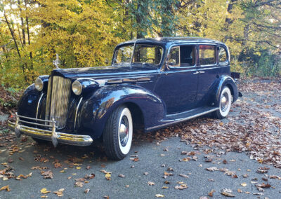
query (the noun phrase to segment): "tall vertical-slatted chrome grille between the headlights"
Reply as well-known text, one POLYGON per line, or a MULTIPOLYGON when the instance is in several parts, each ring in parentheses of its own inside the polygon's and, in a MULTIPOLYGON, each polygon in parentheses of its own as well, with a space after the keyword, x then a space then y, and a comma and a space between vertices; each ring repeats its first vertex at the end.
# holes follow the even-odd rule
POLYGON ((61 76, 51 76, 48 81, 45 120, 56 121, 58 129, 65 128, 71 80, 61 76))

